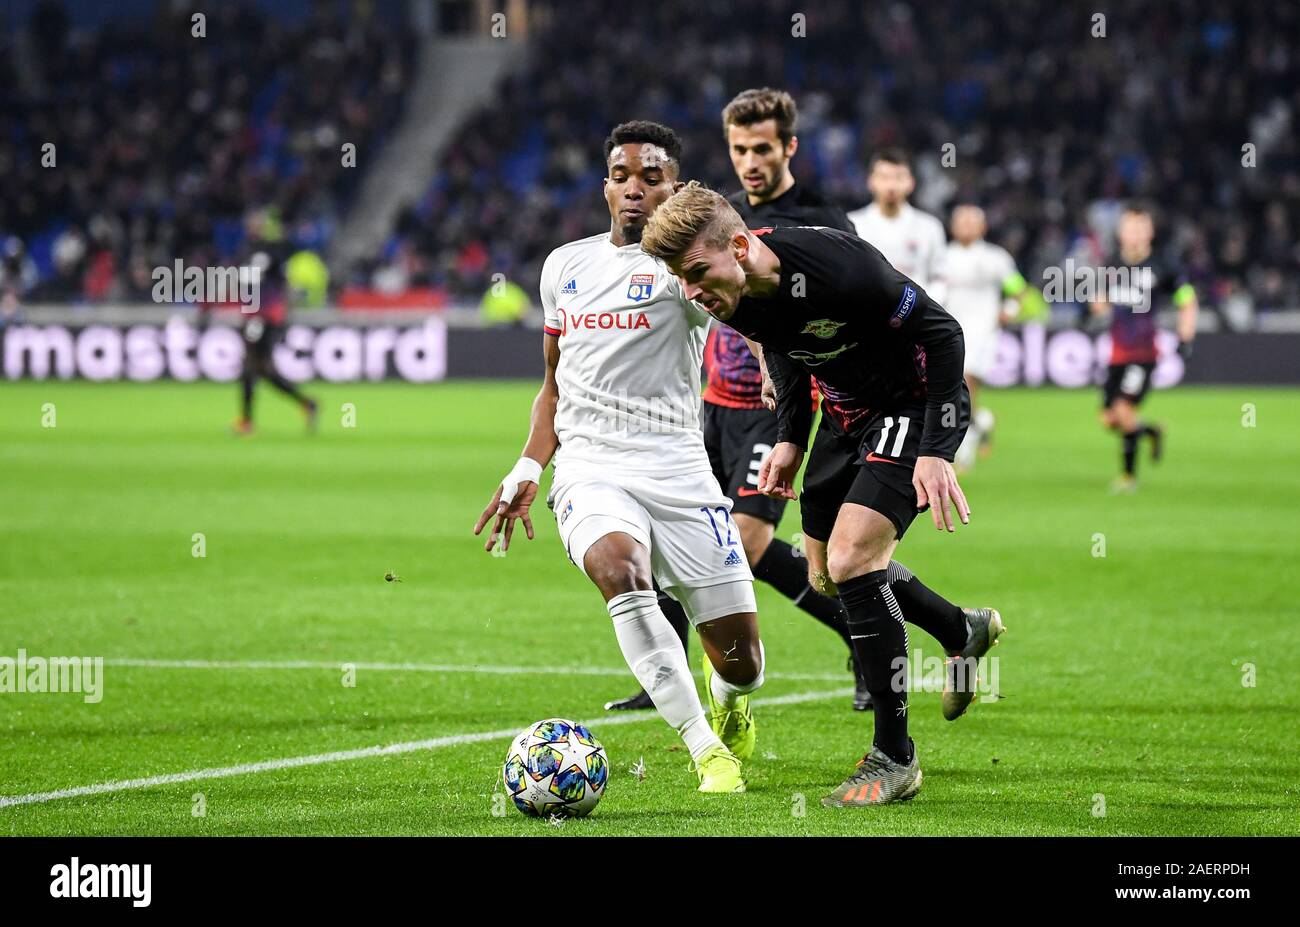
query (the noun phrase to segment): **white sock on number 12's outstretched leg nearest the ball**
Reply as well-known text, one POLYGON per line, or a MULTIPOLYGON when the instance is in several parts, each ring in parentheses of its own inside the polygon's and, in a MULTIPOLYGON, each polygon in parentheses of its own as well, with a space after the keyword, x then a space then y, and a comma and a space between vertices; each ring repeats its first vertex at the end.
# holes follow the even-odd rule
POLYGON ((690 758, 699 759, 712 748, 722 746, 705 718, 686 653, 659 610, 655 593, 650 589, 623 593, 611 598, 606 607, 623 659, 650 694, 659 715, 681 735, 690 758))

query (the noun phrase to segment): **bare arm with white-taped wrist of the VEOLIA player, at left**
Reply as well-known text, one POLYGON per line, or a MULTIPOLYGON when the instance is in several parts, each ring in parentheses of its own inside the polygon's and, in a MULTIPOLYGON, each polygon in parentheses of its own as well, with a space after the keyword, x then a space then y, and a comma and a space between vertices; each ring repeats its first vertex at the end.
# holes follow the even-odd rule
POLYGON ((559 403, 559 385, 555 382, 555 368, 560 360, 559 338, 551 334, 542 335, 542 354, 546 358, 546 376, 542 389, 533 399, 533 412, 528 429, 528 441, 524 442, 524 452, 514 469, 497 486, 491 502, 484 508, 478 521, 474 523, 474 534, 481 534, 484 527, 495 515, 497 523, 484 550, 497 546, 497 540, 502 538, 502 550, 510 550, 510 538, 515 533, 515 521, 524 523, 524 532, 528 540, 533 540, 533 520, 529 516, 529 506, 537 498, 537 489, 541 485, 542 471, 555 456, 559 447, 559 438, 555 436, 555 407, 559 403))

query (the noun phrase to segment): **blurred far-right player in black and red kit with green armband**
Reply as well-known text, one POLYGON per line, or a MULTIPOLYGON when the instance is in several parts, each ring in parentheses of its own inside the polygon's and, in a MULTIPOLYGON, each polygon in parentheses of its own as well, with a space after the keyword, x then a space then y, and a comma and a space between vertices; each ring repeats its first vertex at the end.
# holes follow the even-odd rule
POLYGON ((1156 224, 1149 208, 1128 205, 1119 216, 1115 237, 1119 248, 1112 264, 1127 272, 1098 274, 1106 295, 1091 308, 1093 315, 1110 315, 1110 365, 1102 387, 1101 424, 1119 436, 1123 449, 1123 471, 1112 490, 1131 493, 1138 488, 1138 442, 1150 439, 1152 460, 1158 462, 1164 454, 1164 429, 1138 417, 1156 369, 1154 300, 1165 295, 1178 307, 1178 352, 1184 359, 1191 356, 1196 338, 1199 303, 1182 268, 1152 252, 1156 224))

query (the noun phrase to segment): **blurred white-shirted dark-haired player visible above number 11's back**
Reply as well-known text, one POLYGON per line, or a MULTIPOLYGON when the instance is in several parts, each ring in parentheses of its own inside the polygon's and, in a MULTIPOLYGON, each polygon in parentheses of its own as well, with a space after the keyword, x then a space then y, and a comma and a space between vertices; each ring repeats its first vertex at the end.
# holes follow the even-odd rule
POLYGON ((907 202, 915 189, 907 155, 897 148, 878 151, 867 173, 871 203, 850 212, 849 221, 858 238, 874 244, 894 270, 945 306, 944 224, 907 202))

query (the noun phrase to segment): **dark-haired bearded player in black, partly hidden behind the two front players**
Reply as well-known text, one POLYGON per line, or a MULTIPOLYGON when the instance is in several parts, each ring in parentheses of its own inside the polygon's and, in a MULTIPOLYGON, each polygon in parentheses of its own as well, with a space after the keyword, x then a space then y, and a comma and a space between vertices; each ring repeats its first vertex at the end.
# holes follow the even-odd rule
MULTIPOLYGON (((794 182, 790 159, 800 144, 794 134, 797 124, 794 99, 780 90, 746 90, 727 104, 723 135, 741 183, 741 191, 731 198, 732 205, 750 228, 824 225, 853 234, 853 224, 842 209, 794 182)), ((802 553, 775 536, 785 499, 758 491, 758 468, 776 445, 776 415, 763 404, 758 359, 738 332, 714 325, 705 345, 705 371, 708 382, 699 416, 705 447, 714 476, 732 501, 732 520, 754 576, 840 634, 852 662, 853 647, 840 603, 809 585, 802 553)), ((814 402, 811 397, 809 402, 814 402)), ((660 605, 676 627, 685 625, 680 605, 671 599, 660 605)), ((855 664, 854 679, 853 707, 864 711, 871 697, 855 664)), ((642 690, 604 707, 649 707, 649 698, 642 690)))

